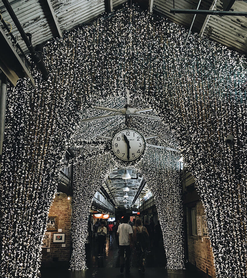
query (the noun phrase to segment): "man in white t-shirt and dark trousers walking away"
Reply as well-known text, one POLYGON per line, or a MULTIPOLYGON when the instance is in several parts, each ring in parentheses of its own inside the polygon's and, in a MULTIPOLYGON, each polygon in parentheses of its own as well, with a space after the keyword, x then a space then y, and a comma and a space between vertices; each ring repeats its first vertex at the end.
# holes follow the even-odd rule
POLYGON ((120 250, 120 272, 123 273, 124 265, 126 273, 129 273, 130 254, 132 248, 132 227, 128 224, 129 217, 125 215, 123 223, 118 226, 117 235, 119 235, 119 250, 120 250), (124 261, 124 252, 126 262, 124 261))

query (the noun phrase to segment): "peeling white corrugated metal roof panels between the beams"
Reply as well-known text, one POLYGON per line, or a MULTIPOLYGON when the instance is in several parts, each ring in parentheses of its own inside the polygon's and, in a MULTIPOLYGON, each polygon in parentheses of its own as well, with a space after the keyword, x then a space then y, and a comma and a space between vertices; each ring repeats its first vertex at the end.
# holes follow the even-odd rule
MULTIPOLYGON (((142 3, 142 8, 148 5, 148 1, 138 0, 142 3)), ((126 3, 126 0, 113 0, 114 10, 126 3)), ((202 0, 200 9, 209 10, 213 0, 202 0)), ((25 32, 32 34, 32 43, 36 45, 57 36, 56 28, 53 25, 46 1, 43 0, 14 0, 11 6, 19 21, 23 25, 25 32)), ((51 0, 52 7, 56 14, 61 31, 70 30, 83 23, 94 21, 107 11, 105 0, 51 0)), ((175 0, 175 8, 196 9, 198 1, 175 0)), ((0 0, 1 13, 3 18, 12 22, 8 12, 0 0)), ((189 28, 193 14, 171 14, 173 0, 154 0, 154 13, 161 14, 170 21, 178 23, 185 28, 189 28)), ((222 0, 218 0, 216 8, 222 10, 222 0)), ((233 10, 247 11, 247 3, 236 1, 233 10)), ((193 32, 200 32, 206 16, 197 15, 193 25, 193 32)), ((12 33, 19 35, 15 26, 12 33)), ((229 46, 239 52, 246 53, 247 38, 247 18, 233 16, 211 16, 204 36, 229 46)), ((19 44, 27 50, 25 44, 19 39, 19 44)))

